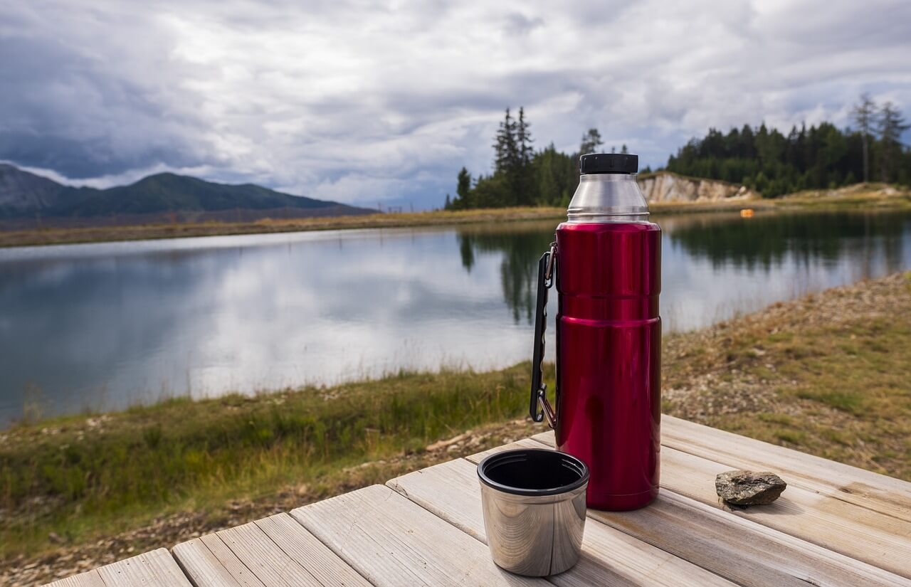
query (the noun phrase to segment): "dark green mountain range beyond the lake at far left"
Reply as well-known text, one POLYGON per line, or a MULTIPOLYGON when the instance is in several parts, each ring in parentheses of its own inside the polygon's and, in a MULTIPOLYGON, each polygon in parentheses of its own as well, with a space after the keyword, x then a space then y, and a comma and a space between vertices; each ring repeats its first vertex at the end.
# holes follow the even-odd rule
POLYGON ((255 220, 373 214, 375 210, 159 173, 129 186, 69 187, 0 164, 0 223, 92 226, 157 221, 255 220))

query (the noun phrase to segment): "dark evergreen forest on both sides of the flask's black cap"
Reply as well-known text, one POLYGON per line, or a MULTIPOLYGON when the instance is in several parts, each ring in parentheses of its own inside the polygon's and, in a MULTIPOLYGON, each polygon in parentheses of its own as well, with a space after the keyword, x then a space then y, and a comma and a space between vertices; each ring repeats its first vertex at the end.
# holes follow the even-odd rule
MULTIPOLYGON (((843 129, 829 122, 795 126, 787 134, 764 123, 726 134, 710 128, 671 155, 663 169, 743 184, 763 197, 861 181, 911 185, 911 149, 901 142, 908 125, 898 108, 889 102, 877 106, 864 95, 852 110, 852 122, 854 127, 843 129)), ((558 151, 553 143, 536 150, 533 142, 524 108, 518 116, 507 108, 493 145, 493 172, 472 177, 462 167, 446 209, 567 206, 578 185, 578 157, 604 144, 599 130, 589 128, 574 153, 558 151)), ((620 147, 619 152, 626 151, 620 147)), ((650 171, 646 167, 640 173, 650 171)))

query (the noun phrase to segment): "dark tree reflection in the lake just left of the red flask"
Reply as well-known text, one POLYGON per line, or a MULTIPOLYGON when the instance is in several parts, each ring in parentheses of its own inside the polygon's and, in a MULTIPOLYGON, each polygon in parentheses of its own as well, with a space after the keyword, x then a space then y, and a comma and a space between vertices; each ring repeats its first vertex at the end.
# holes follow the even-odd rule
POLYGON ((461 230, 457 237, 462 266, 471 271, 476 257, 501 253, 500 283, 503 297, 516 322, 524 315, 528 324, 535 317, 537 259, 554 239, 554 225, 461 230), (494 232, 493 230, 498 230, 494 232))

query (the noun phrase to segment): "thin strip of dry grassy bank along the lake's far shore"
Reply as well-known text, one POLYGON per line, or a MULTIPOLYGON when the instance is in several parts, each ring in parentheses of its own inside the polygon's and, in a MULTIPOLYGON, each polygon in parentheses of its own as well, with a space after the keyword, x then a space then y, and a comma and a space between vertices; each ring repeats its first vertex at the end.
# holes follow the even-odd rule
MULTIPOLYGON (((763 200, 653 203, 654 214, 734 211, 742 207, 759 209, 844 209, 869 207, 911 208, 911 192, 879 184, 845 187, 834 191, 801 192, 790 197, 763 200)), ((459 225, 480 222, 566 218, 558 207, 512 207, 478 210, 374 214, 332 218, 265 219, 255 222, 200 222, 148 224, 97 228, 35 228, 0 231, 0 247, 65 245, 114 240, 211 237, 219 235, 269 234, 340 228, 408 228, 459 225)))

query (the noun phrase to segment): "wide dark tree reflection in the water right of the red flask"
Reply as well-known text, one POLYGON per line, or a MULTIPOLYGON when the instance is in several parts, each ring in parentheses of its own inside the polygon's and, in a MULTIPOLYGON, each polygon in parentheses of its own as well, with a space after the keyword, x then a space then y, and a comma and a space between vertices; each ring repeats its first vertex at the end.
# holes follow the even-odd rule
MULTIPOLYGON (((754 218, 693 218, 668 227, 670 240, 693 257, 708 258, 714 267, 732 261, 768 272, 788 253, 804 265, 816 259, 835 260, 849 248, 860 254, 864 275, 871 275, 882 243, 885 270, 902 267, 903 234, 911 232, 906 212, 827 212, 768 214, 754 218)), ((669 223, 672 225, 673 223, 669 223)))

